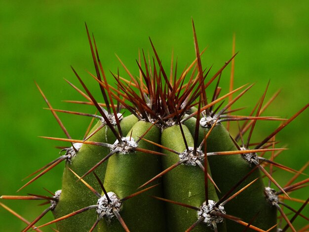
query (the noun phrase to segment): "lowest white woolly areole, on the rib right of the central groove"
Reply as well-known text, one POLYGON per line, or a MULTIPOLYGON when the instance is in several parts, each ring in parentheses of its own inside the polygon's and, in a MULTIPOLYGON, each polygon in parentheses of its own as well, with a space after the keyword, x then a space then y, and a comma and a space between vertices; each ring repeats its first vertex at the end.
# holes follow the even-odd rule
POLYGON ((216 202, 213 200, 208 200, 208 205, 206 205, 206 201, 199 207, 200 210, 197 212, 198 219, 204 217, 203 223, 207 224, 207 226, 212 226, 212 222, 221 223, 223 222, 223 217, 211 215, 211 211, 217 211, 220 213, 226 213, 224 207, 219 205, 215 206, 216 202))

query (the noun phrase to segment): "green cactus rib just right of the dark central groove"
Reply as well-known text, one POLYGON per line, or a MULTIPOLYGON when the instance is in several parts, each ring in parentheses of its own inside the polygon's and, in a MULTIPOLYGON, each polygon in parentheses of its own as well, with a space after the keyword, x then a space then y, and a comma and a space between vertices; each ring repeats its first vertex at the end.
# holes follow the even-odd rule
MULTIPOLYGON (((186 135, 188 146, 193 147, 193 137, 187 127, 183 126, 186 135)), ((186 150, 182 134, 178 125, 166 128, 162 132, 161 143, 163 146, 171 148, 177 152, 184 152, 186 150)), ((166 157, 163 157, 163 168, 179 161, 179 156, 171 152, 166 152, 166 157)), ((195 207, 200 207, 205 201, 204 188, 204 173, 195 164, 186 165, 181 164, 171 172, 164 176, 164 195, 167 199, 183 202, 195 207)), ((218 201, 218 196, 214 186, 208 182, 209 199, 218 201)), ((170 231, 186 231, 194 220, 196 220, 197 212, 193 209, 181 207, 179 205, 167 205, 167 218, 170 231)), ((226 231, 224 223, 218 225, 219 231, 226 231)), ((211 227, 206 224, 200 224, 194 231, 211 231, 211 227)))

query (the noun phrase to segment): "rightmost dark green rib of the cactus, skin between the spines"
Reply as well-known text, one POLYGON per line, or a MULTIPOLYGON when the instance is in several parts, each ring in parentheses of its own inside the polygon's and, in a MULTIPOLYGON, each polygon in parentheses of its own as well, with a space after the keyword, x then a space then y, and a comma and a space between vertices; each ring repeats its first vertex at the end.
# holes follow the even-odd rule
MULTIPOLYGON (((192 118, 185 124, 188 125, 191 133, 194 134, 195 118, 192 118)), ((200 126, 199 131, 199 141, 202 141, 209 128, 200 126)), ((226 128, 222 124, 216 125, 207 139, 207 152, 236 150, 237 148, 226 128)), ((254 168, 241 155, 213 155, 208 157, 208 161, 211 166, 213 179, 221 191, 218 192, 219 197, 227 193, 246 173, 249 173, 254 168)), ((262 176, 259 169, 256 169, 248 176, 235 191, 240 190, 254 179, 259 179, 246 190, 245 194, 240 194, 237 198, 227 203, 225 209, 228 214, 247 222, 257 214, 255 219, 256 225, 259 225, 259 228, 263 230, 268 230, 276 224, 276 209, 265 200, 265 185, 262 176), (240 205, 241 207, 239 207, 240 205), (259 215, 259 212, 263 212, 263 215, 259 215)), ((232 231, 240 231, 242 229, 241 225, 233 221, 227 221, 227 226, 232 231)))

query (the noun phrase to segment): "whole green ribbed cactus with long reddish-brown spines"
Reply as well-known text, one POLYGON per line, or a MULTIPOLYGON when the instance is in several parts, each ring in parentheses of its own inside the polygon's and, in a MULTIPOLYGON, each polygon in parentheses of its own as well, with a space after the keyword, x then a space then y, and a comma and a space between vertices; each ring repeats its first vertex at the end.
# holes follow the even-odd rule
POLYGON ((92 105, 95 115, 52 108, 37 84, 47 109, 67 136, 44 138, 70 146, 31 174, 32 179, 20 189, 64 161, 61 191, 48 191, 48 196, 1 196, 0 205, 27 224, 23 231, 41 231, 54 224, 53 230, 60 232, 275 232, 296 231, 293 222, 297 217, 309 220, 301 212, 309 198, 303 199, 300 209, 284 202, 289 193, 308 185, 309 178, 296 183, 295 179, 309 162, 297 171, 274 160, 285 150, 276 148, 275 135, 309 104, 289 119, 262 116, 277 96, 267 101, 268 83, 251 114, 238 115, 241 109, 232 108, 233 104, 252 85, 231 87, 225 95, 219 87, 225 68, 232 65, 233 70, 234 46, 232 58, 211 76, 201 63, 204 50, 199 51, 194 24, 196 58, 184 71, 177 70, 172 58, 167 74, 151 41, 154 57, 142 52, 137 61, 139 76, 133 76, 118 58, 129 78, 112 74, 115 86, 107 81, 95 40, 86 30, 96 71, 89 74, 105 102, 97 102, 73 68, 83 90, 67 82, 86 99, 74 103, 92 105), (214 91, 209 85, 215 86, 214 91), (97 122, 77 140, 58 113, 92 117, 90 125, 94 119, 97 122), (264 140, 252 143, 258 120, 281 124, 264 140), (239 129, 236 135, 229 132, 232 126, 239 129), (272 178, 275 168, 294 172, 293 179, 280 186, 272 178), (2 203, 6 199, 43 200, 49 206, 28 222, 2 203), (55 220, 41 225, 39 220, 49 211, 55 220))

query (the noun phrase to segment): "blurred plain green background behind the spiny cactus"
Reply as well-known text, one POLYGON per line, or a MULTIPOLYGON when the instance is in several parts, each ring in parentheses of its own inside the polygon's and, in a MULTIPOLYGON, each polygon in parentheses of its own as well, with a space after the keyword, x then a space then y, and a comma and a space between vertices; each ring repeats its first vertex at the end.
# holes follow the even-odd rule
MULTIPOLYGON (((38 138, 64 137, 64 134, 51 113, 42 109, 46 106, 34 80, 54 108, 95 112, 88 106, 62 102, 83 100, 63 80, 65 77, 78 85, 70 65, 96 91, 94 95, 101 97, 97 84, 86 73, 94 68, 84 21, 95 34, 108 74, 109 70, 116 72, 120 67, 116 53, 131 73, 138 75, 135 59, 139 48, 150 50, 149 36, 165 67, 169 67, 173 49, 178 56, 179 72, 183 70, 194 59, 193 17, 200 48, 209 45, 202 62, 204 67, 213 65, 212 74, 231 57, 232 35, 236 35, 239 54, 235 60, 234 85, 256 83, 237 105, 248 107, 241 114, 250 112, 269 79, 268 98, 278 88, 282 91, 264 115, 290 117, 308 103, 309 4, 306 0, 297 3, 252 0, 247 4, 239 0, 0 0, 0 6, 0 195, 16 194, 24 183, 22 178, 58 156, 55 146, 67 145, 38 138)), ((122 68, 119 72, 126 77, 122 68)), ((228 91, 229 77, 230 66, 223 73, 223 93, 228 91)), ((72 137, 82 138, 89 118, 61 113, 59 116, 72 137)), ((290 148, 278 161, 295 169, 308 161, 308 118, 307 110, 276 137, 282 146, 288 144, 290 148)), ((258 122, 253 140, 263 139, 278 124, 258 122)), ((19 194, 45 194, 43 187, 52 192, 60 189, 63 167, 64 163, 19 194)), ((277 171, 274 176, 284 184, 292 174, 277 171)), ((307 188, 291 196, 306 199, 308 192, 307 188)), ((33 220, 45 207, 37 206, 38 202, 1 202, 28 220, 33 220)), ((291 205, 296 209, 301 206, 292 202, 291 205)), ((309 216, 309 207, 303 213, 309 216)), ((48 215, 42 222, 51 218, 48 215)), ((299 229, 305 224, 299 218, 295 227, 299 229)), ((1 231, 20 231, 24 226, 0 208, 1 231)))

